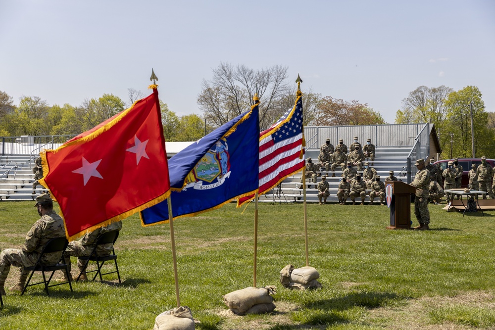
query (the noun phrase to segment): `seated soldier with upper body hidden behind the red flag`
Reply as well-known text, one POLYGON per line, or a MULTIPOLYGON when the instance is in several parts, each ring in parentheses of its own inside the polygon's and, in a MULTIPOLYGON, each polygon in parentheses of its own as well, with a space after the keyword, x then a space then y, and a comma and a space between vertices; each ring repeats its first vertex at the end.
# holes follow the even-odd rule
MULTIPOLYGON (((117 221, 109 224, 105 227, 100 227, 94 230, 91 233, 86 233, 80 240, 73 240, 67 246, 67 249, 64 253, 64 262, 69 266, 69 277, 72 281, 72 274, 70 273, 70 257, 89 257, 93 249, 95 248, 96 242, 98 241, 99 236, 111 232, 114 230, 120 231, 122 229, 122 221, 117 221)), ((109 255, 113 250, 113 244, 103 244, 99 245, 97 248, 97 254, 100 257, 104 257, 109 255)), ((79 268, 79 272, 83 271, 85 261, 78 259, 77 267, 79 268)), ((80 281, 86 281, 86 272, 81 274, 79 278, 80 281)), ((63 274, 63 278, 59 279, 59 281, 67 281, 67 274, 63 274)))

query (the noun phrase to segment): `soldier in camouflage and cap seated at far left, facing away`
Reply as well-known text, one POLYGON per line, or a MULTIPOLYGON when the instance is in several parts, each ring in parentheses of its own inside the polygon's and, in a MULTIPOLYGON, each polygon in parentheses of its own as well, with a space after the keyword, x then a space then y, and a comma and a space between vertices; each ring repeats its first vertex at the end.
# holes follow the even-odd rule
MULTIPOLYGON (((22 249, 5 249, 0 253, 0 294, 5 295, 4 284, 10 266, 20 268, 20 277, 10 291, 22 291, 29 272, 24 267, 32 267, 38 261, 41 251, 51 238, 65 237, 65 227, 62 218, 53 211, 53 202, 48 193, 36 197, 38 214, 41 219, 34 223, 26 235, 22 249)), ((44 263, 56 263, 62 257, 59 253, 45 255, 44 263)))

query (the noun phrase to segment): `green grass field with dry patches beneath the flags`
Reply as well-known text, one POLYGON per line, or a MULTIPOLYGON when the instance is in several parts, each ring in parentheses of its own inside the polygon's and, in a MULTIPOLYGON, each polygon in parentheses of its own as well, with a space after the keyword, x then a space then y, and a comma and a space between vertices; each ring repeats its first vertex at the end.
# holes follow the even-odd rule
MULTIPOLYGON (((277 308, 256 316, 231 315, 222 299, 252 286, 253 203, 178 219, 181 303, 209 330, 494 329, 495 212, 462 217, 443 206, 430 205, 432 230, 417 232, 386 230, 386 206, 309 204, 309 264, 323 288, 289 291, 279 272, 305 266, 302 205, 260 204, 257 286, 277 285, 277 308)), ((38 218, 33 202, 0 203, 0 249, 20 248, 38 218)), ((75 283, 73 294, 68 285, 49 297, 41 285, 7 291, 0 329, 152 329, 154 313, 176 307, 169 225, 123 223, 122 284, 110 275, 75 283)), ((5 287, 17 276, 12 267, 5 287)))

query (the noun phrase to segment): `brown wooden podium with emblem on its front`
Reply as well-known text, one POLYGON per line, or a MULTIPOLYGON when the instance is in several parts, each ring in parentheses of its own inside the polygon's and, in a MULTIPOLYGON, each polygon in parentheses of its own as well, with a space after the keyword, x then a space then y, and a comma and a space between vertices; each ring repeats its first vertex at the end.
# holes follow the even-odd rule
POLYGON ((411 228, 411 194, 416 188, 401 181, 386 182, 392 185, 392 202, 390 204, 390 226, 387 229, 411 228))

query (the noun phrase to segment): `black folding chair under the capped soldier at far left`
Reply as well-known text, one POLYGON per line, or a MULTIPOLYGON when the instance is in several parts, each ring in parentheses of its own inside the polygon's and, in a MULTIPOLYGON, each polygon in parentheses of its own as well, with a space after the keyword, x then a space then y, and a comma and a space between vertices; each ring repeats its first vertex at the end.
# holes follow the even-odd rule
POLYGON ((51 286, 57 286, 57 285, 62 285, 62 284, 67 284, 67 283, 69 283, 70 291, 71 292, 74 292, 72 290, 72 284, 70 283, 70 277, 69 277, 69 279, 68 279, 67 282, 62 282, 62 283, 57 283, 57 284, 51 284, 51 285, 49 285, 50 284, 50 281, 51 281, 51 278, 53 277, 53 274, 55 274, 55 271, 65 270, 66 273, 68 272, 69 265, 63 263, 63 261, 64 261, 63 260, 63 254, 64 254, 65 249, 67 248, 67 245, 68 244, 69 244, 69 241, 65 237, 51 238, 47 242, 47 244, 45 245, 45 247, 43 247, 43 250, 41 251, 40 257, 38 258, 38 261, 36 262, 36 264, 34 266, 32 266, 32 267, 24 267, 25 270, 27 270, 28 272, 31 272, 31 275, 29 276, 29 279, 26 282, 26 285, 24 286, 24 289, 22 290, 21 295, 23 295, 24 292, 26 292, 26 288, 28 286, 33 286, 33 285, 37 285, 37 284, 45 284, 45 291, 47 291, 47 295, 49 295, 49 293, 48 293, 48 288, 49 287, 51 287, 51 286), (61 253, 59 261, 57 263, 53 264, 53 265, 43 265, 43 263, 42 263, 43 256, 45 254, 54 253, 54 252, 60 252, 61 253), (29 284, 29 282, 31 281, 31 278, 33 277, 34 272, 42 272, 42 274, 43 274, 43 282, 29 284), (51 272, 51 275, 50 275, 48 281, 47 281, 47 278, 45 276, 45 272, 51 272))

